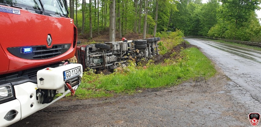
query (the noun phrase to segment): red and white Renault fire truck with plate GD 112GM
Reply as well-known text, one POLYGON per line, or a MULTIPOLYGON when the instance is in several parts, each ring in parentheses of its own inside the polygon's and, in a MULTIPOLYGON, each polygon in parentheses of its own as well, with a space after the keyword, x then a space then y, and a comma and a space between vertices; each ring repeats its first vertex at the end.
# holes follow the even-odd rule
POLYGON ((67 64, 77 29, 66 0, 0 0, 0 19, 0 126, 8 126, 74 94, 83 70, 67 64))

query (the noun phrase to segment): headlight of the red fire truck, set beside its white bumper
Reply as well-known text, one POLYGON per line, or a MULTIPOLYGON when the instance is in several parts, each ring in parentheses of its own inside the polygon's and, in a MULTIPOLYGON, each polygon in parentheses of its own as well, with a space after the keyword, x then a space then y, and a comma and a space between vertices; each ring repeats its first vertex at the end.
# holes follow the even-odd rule
POLYGON ((12 87, 9 85, 0 86, 0 101, 13 97, 12 87))

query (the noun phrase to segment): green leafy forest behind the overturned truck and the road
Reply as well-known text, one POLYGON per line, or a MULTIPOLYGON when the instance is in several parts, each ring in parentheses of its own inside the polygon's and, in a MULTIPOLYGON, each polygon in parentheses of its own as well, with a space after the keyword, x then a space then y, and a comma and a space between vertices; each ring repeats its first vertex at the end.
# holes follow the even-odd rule
POLYGON ((255 13, 260 3, 261 0, 69 0, 68 10, 78 33, 88 33, 89 38, 109 28, 110 9, 115 8, 115 22, 111 23, 119 37, 130 31, 155 36, 156 32, 180 29, 185 36, 261 43, 260 19, 255 13))

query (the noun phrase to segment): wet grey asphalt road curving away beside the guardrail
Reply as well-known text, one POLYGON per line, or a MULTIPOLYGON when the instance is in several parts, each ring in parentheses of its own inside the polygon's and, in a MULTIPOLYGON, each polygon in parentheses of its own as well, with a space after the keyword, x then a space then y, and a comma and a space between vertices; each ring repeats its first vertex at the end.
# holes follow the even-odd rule
MULTIPOLYGON (((246 106, 261 109, 261 52, 197 38, 184 38, 197 45, 228 78, 233 96, 246 106), (255 107, 253 107, 255 106, 255 107)), ((255 110, 254 110, 255 111, 255 110)))

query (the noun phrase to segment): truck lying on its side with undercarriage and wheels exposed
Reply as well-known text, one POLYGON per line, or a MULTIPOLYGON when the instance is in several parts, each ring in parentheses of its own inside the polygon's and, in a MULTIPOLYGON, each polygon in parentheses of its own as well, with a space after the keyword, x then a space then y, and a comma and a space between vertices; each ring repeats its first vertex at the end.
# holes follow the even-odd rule
POLYGON ((127 66, 129 57, 136 62, 142 58, 149 59, 159 54, 157 41, 160 37, 143 40, 129 40, 127 42, 105 42, 77 46, 75 56, 83 70, 113 71, 119 65, 127 66))

